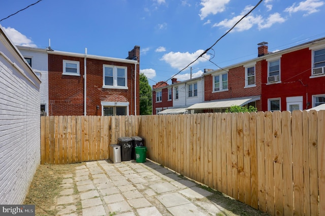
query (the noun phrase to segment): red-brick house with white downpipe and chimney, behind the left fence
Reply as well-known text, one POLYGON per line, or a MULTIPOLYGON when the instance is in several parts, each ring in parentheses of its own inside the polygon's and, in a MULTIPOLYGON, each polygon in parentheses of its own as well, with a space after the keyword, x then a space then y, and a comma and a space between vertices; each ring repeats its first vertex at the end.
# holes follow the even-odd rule
POLYGON ((49 115, 138 115, 140 47, 126 59, 48 51, 49 115))

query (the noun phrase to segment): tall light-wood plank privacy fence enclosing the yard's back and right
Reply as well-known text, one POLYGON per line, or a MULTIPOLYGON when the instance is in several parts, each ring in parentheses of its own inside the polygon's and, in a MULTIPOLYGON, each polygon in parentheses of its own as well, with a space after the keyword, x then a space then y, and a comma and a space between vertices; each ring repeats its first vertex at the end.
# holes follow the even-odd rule
POLYGON ((325 215, 325 111, 42 117, 41 128, 42 161, 106 159, 109 143, 138 135, 151 160, 270 215, 325 215))

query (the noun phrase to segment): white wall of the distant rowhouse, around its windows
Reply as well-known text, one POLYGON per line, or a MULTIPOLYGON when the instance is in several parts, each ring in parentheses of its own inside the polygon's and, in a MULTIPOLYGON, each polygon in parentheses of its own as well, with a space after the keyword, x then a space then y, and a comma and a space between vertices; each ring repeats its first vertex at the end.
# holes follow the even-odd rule
POLYGON ((192 105, 204 101, 204 89, 202 79, 184 81, 173 85, 173 106, 192 105), (188 97, 188 84, 198 84, 198 96, 188 97), (178 100, 175 100, 175 87, 178 87, 178 100))

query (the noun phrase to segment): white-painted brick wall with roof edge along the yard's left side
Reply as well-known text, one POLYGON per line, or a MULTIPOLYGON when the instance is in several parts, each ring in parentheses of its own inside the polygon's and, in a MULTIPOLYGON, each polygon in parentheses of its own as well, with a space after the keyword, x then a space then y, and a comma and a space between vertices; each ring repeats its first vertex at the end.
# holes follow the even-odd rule
POLYGON ((0 204, 22 204, 40 164, 40 84, 0 25, 0 204))

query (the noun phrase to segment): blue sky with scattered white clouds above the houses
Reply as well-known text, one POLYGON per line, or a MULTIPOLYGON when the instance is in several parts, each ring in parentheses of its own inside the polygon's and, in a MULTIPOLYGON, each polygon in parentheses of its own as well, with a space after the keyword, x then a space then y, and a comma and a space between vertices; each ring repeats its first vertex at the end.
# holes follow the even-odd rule
MULTIPOLYGON (((0 20, 37 0, 1 0, 0 20)), ((42 0, 0 24, 16 45, 126 58, 139 45, 140 72, 152 86, 169 80, 212 46, 257 0, 42 0)), ((264 0, 191 65, 192 77, 325 37, 325 1, 264 0), (210 62, 209 61, 212 61, 210 62), (216 65, 215 65, 216 64, 216 65)), ((190 67, 176 76, 190 78, 190 67)), ((169 84, 171 81, 168 81, 169 84)))

